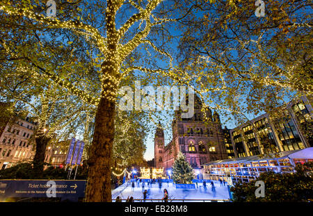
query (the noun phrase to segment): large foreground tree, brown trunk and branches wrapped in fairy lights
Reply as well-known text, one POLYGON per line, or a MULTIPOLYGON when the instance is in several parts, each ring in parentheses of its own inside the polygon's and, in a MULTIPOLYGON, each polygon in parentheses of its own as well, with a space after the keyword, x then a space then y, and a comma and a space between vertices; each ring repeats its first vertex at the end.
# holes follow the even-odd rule
MULTIPOLYGON (((10 20, 22 17, 25 28, 40 32, 45 29, 70 29, 78 35, 83 35, 86 43, 97 50, 93 57, 95 64, 101 67, 99 98, 56 76, 53 70, 42 71, 72 94, 97 106, 93 143, 88 158, 86 201, 111 201, 111 152, 115 128, 115 101, 120 80, 134 69, 141 70, 149 76, 163 74, 178 79, 179 76, 172 68, 172 58, 166 52, 168 51, 166 49, 169 49, 166 44, 172 40, 172 33, 167 29, 170 22, 176 18, 182 19, 184 14, 191 11, 193 7, 186 2, 182 4, 181 1, 162 0, 56 1, 57 17, 47 17, 47 8, 41 1, 1 1, 0 10, 6 17, 10 20), (151 54, 154 58, 150 58, 151 54), (136 67, 132 67, 134 64, 125 64, 130 56, 133 57, 131 63, 138 62, 136 67), (138 56, 141 56, 140 60, 138 56), (168 64, 162 63, 162 67, 166 69, 154 67, 157 58, 167 61, 168 64), (147 62, 150 64, 145 67, 147 62)), ((60 38, 54 39, 61 41, 60 38)), ((72 44, 70 40, 65 41, 72 44)))

